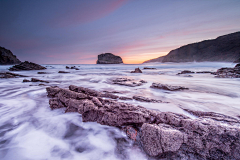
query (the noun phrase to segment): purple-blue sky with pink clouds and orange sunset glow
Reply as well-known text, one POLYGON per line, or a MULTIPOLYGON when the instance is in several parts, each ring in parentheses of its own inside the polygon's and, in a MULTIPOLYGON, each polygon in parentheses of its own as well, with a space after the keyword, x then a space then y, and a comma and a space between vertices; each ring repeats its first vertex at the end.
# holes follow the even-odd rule
POLYGON ((236 31, 240 0, 0 0, 0 46, 39 64, 137 64, 236 31))

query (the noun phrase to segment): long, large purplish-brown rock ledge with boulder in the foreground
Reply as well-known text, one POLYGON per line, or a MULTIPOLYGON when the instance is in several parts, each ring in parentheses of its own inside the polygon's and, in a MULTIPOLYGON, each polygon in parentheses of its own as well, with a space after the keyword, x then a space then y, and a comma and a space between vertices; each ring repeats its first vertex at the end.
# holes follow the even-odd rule
POLYGON ((237 118, 190 111, 198 116, 148 110, 103 99, 100 92, 77 86, 47 87, 50 107, 82 114, 83 122, 123 128, 153 157, 165 159, 240 159, 240 122, 237 118))

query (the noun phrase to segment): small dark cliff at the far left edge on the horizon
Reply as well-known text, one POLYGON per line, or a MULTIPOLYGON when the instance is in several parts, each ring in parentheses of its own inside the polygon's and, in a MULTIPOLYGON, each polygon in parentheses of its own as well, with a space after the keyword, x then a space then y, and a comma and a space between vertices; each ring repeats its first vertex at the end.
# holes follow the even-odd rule
POLYGON ((10 50, 0 47, 0 65, 19 63, 21 61, 10 50))

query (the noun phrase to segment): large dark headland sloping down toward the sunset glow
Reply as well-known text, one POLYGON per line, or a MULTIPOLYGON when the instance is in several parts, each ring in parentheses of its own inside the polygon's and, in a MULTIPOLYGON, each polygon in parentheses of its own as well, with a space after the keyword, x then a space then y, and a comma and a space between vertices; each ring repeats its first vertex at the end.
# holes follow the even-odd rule
POLYGON ((172 50, 162 62, 234 62, 240 58, 240 32, 172 50))

